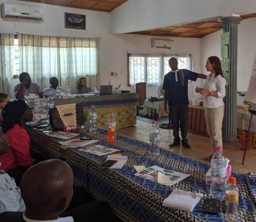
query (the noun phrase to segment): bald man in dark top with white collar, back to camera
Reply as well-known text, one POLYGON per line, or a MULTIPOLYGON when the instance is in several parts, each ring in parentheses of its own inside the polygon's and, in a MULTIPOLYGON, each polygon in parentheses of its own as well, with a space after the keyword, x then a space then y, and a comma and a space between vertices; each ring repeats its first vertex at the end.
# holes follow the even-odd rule
POLYGON ((113 217, 108 205, 100 201, 65 211, 73 195, 73 172, 71 167, 59 159, 51 159, 30 167, 22 177, 21 194, 26 211, 1 213, 0 221, 120 221, 113 217))

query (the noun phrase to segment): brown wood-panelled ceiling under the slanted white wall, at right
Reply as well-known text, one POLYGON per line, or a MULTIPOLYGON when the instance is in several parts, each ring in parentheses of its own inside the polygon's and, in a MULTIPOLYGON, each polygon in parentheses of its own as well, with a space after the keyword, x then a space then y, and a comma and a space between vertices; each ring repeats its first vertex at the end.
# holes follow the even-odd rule
MULTIPOLYGON (((241 20, 256 17, 256 13, 241 15, 241 20)), ((139 34, 145 36, 172 36, 187 38, 202 38, 208 34, 222 29, 223 26, 218 19, 203 22, 188 23, 180 26, 168 26, 165 28, 149 29, 144 31, 129 32, 128 34, 139 34)))

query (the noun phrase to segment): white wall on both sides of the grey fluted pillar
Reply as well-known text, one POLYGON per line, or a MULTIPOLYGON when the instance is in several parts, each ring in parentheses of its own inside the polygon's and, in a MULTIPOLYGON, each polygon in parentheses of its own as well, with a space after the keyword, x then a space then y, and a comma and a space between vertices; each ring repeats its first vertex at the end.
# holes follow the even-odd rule
MULTIPOLYGON (((202 67, 209 56, 216 55, 220 58, 220 34, 223 30, 202 38, 202 67)), ((256 53, 256 18, 241 21, 238 25, 238 66, 237 90, 247 91, 252 72, 253 60, 256 53)), ((206 74, 206 70, 202 72, 206 74)))

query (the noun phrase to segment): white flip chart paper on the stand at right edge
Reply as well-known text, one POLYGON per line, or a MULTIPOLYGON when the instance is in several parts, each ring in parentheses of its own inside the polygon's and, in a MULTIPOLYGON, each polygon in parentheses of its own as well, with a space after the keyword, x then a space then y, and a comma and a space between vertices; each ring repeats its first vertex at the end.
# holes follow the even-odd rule
POLYGON ((256 103, 256 54, 253 62, 252 74, 249 82, 247 92, 244 96, 244 100, 256 103))

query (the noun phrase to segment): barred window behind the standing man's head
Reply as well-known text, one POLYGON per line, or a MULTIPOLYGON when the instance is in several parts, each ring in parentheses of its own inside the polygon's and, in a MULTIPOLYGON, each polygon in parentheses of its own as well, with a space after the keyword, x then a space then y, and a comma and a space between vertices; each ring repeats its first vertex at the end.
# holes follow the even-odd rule
POLYGON ((171 71, 169 59, 175 57, 178 60, 179 69, 191 70, 191 56, 174 55, 138 55, 127 54, 128 61, 128 86, 139 82, 158 84, 163 81, 164 75, 171 71), (163 62, 161 62, 161 60, 163 62), (163 65, 160 65, 163 64, 163 65))

